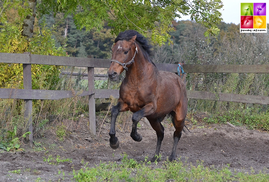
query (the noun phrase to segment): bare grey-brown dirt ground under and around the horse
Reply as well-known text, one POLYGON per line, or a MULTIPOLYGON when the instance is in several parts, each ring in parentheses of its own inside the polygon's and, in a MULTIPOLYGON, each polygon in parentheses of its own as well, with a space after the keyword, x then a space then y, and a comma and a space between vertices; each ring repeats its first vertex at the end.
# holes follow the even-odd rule
MULTIPOLYGON (((202 117, 203 113, 200 115, 197 117, 202 117)), ((123 153, 137 161, 144 161, 145 156, 149 159, 153 157, 157 137, 145 119, 138 128, 138 133, 143 136, 141 142, 131 139, 130 121, 117 125, 116 136, 120 140, 120 147, 116 150, 109 146, 109 123, 104 122, 99 136, 92 136, 87 131, 87 118, 76 122, 80 123, 77 125, 80 127, 76 127, 64 142, 59 141, 55 133, 46 130, 43 137, 34 138, 40 144, 35 150, 24 145, 25 151, 0 151, 0 181, 72 181, 72 171, 84 166, 81 161, 94 167, 100 161, 120 161, 123 153), (48 159, 50 155, 53 158, 58 155, 61 159, 72 159, 72 162, 49 164, 44 158, 48 159), (15 170, 20 172, 9 172, 15 170)), ((101 123, 102 119, 98 122, 97 135, 101 123)), ((165 134, 160 150, 162 161, 170 155, 174 132, 174 127, 168 121, 164 121, 163 125, 165 134)), ((186 126, 190 132, 182 133, 176 151, 176 156, 182 161, 195 165, 197 160, 202 160, 205 166, 223 167, 230 164, 231 171, 269 173, 268 132, 248 130, 244 126, 233 128, 227 124, 206 125, 198 122, 193 125, 188 120, 186 126)))

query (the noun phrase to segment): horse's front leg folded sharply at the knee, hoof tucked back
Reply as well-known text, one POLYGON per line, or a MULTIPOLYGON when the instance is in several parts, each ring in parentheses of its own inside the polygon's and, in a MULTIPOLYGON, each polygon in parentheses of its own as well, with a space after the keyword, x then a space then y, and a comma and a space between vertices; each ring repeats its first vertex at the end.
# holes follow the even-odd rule
POLYGON ((133 125, 132 125, 132 131, 131 131, 131 137, 133 140, 140 142, 142 140, 142 136, 137 133, 137 123, 146 116, 149 116, 155 112, 156 108, 153 104, 147 104, 145 105, 141 110, 134 113, 132 117, 133 125))

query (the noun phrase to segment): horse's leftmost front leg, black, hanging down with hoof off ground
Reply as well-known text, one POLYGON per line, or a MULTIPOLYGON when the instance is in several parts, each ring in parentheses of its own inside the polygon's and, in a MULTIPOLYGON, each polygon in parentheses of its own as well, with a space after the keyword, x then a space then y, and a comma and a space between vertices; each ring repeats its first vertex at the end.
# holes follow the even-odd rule
POLYGON ((124 107, 125 104, 124 102, 119 99, 118 104, 112 107, 111 109, 111 125, 110 125, 110 131, 109 131, 109 145, 112 149, 117 149, 120 146, 120 142, 118 138, 115 136, 116 135, 116 130, 115 130, 115 123, 116 123, 116 118, 119 114, 119 112, 124 112, 127 111, 127 107, 124 107))

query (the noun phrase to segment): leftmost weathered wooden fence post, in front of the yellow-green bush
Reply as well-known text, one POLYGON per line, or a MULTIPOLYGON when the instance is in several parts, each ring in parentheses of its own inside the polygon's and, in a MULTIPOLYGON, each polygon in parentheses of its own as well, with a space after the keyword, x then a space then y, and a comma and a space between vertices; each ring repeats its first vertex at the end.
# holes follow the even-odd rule
MULTIPOLYGON (((29 60, 31 63, 31 54, 29 52, 24 52, 24 54, 29 55, 29 60)), ((23 64, 23 88, 32 89, 32 76, 31 76, 31 64, 23 64)), ((32 124, 32 100, 25 99, 25 111, 24 111, 24 121, 26 123, 27 131, 31 134, 26 136, 26 141, 29 142, 31 147, 33 147, 33 124, 32 124)))

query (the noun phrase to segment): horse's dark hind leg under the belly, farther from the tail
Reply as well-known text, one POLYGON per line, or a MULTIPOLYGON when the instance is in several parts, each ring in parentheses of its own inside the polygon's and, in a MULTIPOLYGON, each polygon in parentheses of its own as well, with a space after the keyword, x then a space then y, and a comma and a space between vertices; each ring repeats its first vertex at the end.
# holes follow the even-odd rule
POLYGON ((158 158, 158 156, 160 154, 161 144, 162 144, 162 141, 164 139, 164 127, 163 127, 161 121, 164 119, 164 117, 159 118, 159 119, 149 119, 149 123, 150 123, 151 127, 153 128, 153 130, 156 131, 156 134, 157 134, 157 146, 156 146, 155 155, 153 156, 153 158, 151 160, 152 162, 154 162, 156 160, 157 161, 160 160, 158 158))

